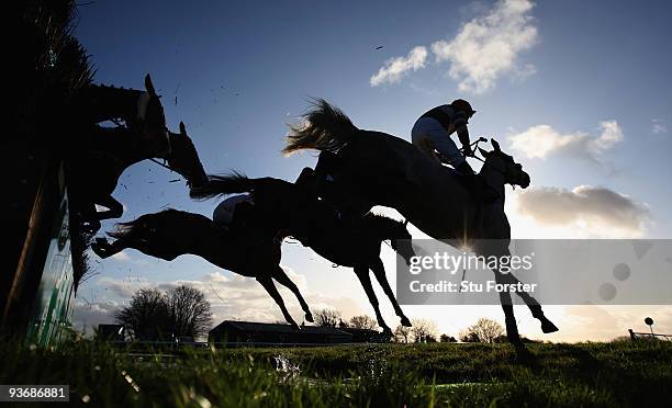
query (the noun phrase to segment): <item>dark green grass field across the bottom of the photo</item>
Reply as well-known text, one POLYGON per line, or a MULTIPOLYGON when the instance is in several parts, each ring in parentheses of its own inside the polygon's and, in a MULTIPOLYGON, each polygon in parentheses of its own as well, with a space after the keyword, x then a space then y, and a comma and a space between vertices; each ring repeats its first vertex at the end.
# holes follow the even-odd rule
MULTIPOLYGON (((88 406, 670 406, 672 343, 377 344, 137 353, 2 344, 0 384, 88 406), (85 403, 86 401, 86 403, 85 403)), ((24 405, 22 405, 24 406, 24 405)))

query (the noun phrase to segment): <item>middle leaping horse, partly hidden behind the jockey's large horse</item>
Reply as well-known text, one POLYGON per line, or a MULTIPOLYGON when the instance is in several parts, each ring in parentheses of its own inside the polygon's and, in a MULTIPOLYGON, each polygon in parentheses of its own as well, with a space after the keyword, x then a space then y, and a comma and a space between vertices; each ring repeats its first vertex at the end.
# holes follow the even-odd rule
MULTIPOLYGON (((402 325, 411 326, 411 321, 394 297, 380 259, 381 242, 387 239, 391 240, 392 248, 406 262, 414 256, 406 224, 381 215, 367 214, 357 228, 354 228, 351 223, 340 219, 338 213, 324 201, 317 200, 314 193, 304 186, 304 182, 311 177, 311 169, 304 169, 296 183, 273 178, 248 179, 239 174, 210 175, 208 184, 191 190, 191 196, 209 199, 250 192, 253 209, 249 214, 242 215, 246 218, 244 222, 246 227, 254 228, 260 224, 259 220, 262 220, 267 228, 273 225, 271 229, 285 231, 328 261, 352 268, 373 306, 378 325, 387 335, 391 335, 392 331, 380 313, 378 298, 371 285, 369 276, 371 270, 392 303, 394 311, 401 318, 402 325)), ((238 207, 234 217, 238 216, 237 213, 238 207)))

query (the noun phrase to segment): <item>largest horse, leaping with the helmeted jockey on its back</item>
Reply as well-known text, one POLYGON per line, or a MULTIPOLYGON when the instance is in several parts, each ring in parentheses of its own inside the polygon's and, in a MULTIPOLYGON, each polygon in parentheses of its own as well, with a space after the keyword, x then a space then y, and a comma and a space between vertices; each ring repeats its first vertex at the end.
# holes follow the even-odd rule
MULTIPOLYGON (((504 213, 504 186, 511 183, 525 189, 530 179, 494 139, 494 150, 480 149, 485 157, 480 177, 499 197, 494 203, 483 204, 451 169, 402 138, 356 127, 348 116, 324 100, 317 100, 304 118, 303 124, 291 128, 283 151, 322 151, 321 161, 331 165, 318 163, 316 170, 325 167, 324 172, 335 180, 332 184, 338 185, 339 193, 331 195, 340 199, 337 207, 363 214, 373 205, 390 206, 436 239, 458 248, 480 240, 480 247, 471 246, 479 256, 509 256, 511 226, 504 213)), ((499 283, 518 282, 511 273, 493 272, 499 283)), ((558 330, 536 299, 527 293, 516 294, 539 319, 545 333, 558 330)), ((508 340, 520 345, 511 293, 502 292, 500 298, 508 340)))

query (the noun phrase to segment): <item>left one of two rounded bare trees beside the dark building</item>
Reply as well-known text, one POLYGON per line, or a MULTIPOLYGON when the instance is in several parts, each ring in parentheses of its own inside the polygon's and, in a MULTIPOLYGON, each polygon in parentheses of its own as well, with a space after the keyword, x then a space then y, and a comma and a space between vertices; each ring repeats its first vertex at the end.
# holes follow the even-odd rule
POLYGON ((172 335, 166 294, 157 288, 135 292, 128 306, 116 310, 114 318, 136 340, 167 339, 172 335))

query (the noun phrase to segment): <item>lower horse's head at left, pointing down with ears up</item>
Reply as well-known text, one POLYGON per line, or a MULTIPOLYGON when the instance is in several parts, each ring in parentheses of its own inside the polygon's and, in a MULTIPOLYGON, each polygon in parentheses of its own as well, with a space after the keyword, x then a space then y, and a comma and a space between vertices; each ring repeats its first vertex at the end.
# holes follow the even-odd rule
POLYGON ((208 183, 208 174, 203 170, 203 165, 199 158, 199 152, 193 141, 187 135, 184 124, 180 122, 180 133, 169 133, 170 154, 168 155, 168 166, 187 179, 190 188, 203 186, 208 183))

